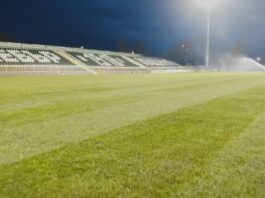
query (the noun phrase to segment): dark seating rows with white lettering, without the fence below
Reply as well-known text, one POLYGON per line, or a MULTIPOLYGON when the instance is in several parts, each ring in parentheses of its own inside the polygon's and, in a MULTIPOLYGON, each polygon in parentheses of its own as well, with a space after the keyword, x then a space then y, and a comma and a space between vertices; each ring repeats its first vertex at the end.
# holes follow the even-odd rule
MULTIPOLYGON (((106 54, 88 50, 81 52, 67 50, 66 53, 89 67, 179 67, 178 64, 161 58, 132 54, 106 54)), ((71 57, 64 56, 62 53, 57 53, 49 48, 30 49, 0 46, 0 66, 73 66, 74 63, 78 64, 76 62, 72 63, 73 60, 71 59, 71 57)))

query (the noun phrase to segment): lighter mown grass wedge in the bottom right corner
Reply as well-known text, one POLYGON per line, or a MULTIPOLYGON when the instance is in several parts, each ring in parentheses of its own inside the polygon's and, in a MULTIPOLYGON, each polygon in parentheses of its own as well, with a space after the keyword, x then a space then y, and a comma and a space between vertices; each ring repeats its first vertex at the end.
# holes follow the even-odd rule
POLYGON ((265 114, 191 180, 174 196, 265 197, 265 114))

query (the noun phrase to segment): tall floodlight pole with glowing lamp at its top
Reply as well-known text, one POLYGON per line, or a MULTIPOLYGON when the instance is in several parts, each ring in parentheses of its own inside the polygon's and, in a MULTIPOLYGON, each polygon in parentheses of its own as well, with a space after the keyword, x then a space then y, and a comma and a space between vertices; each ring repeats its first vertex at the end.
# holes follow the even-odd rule
POLYGON ((209 67, 210 62, 210 34, 211 34, 211 11, 216 6, 217 0, 194 0, 198 7, 202 7, 207 12, 207 37, 205 66, 209 67))

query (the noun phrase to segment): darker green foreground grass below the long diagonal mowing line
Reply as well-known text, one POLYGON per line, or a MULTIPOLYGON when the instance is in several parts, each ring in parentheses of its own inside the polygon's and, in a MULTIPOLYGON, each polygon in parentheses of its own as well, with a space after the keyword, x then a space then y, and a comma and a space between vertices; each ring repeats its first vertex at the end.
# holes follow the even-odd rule
POLYGON ((264 194, 264 113, 261 85, 138 121, 1 165, 0 192, 10 197, 257 197, 264 194))

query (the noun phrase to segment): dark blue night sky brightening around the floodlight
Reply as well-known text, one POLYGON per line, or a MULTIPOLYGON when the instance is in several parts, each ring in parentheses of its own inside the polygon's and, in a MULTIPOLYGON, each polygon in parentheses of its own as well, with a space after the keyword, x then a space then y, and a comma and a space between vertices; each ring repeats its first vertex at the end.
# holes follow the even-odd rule
MULTIPOLYGON (((199 1, 199 0, 198 0, 199 1)), ((0 40, 163 55, 204 53, 206 15, 194 0, 1 0, 0 40)), ((265 58, 265 1, 222 0, 212 12, 211 52, 240 48, 265 58)))

